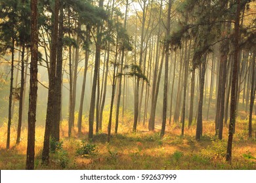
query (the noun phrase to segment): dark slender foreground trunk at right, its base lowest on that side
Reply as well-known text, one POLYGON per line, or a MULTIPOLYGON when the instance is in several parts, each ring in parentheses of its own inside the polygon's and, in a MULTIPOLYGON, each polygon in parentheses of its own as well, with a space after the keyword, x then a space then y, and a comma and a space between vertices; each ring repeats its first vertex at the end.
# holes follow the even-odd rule
POLYGON ((230 103, 230 122, 228 127, 228 146, 226 148, 226 161, 231 163, 232 142, 234 133, 234 124, 236 123, 236 80, 238 73, 238 55, 239 55, 239 32, 240 32, 240 0, 236 1, 236 20, 234 25, 234 66, 232 73, 231 103, 230 103))

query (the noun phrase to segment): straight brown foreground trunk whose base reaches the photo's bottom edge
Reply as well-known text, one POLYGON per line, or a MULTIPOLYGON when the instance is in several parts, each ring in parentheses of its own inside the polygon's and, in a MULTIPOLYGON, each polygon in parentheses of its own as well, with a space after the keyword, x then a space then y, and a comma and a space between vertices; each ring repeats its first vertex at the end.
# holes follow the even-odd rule
POLYGON ((32 170, 35 157, 35 116, 37 107, 37 59, 38 59, 38 29, 37 0, 31 1, 31 63, 30 63, 30 99, 28 106, 28 145, 26 169, 32 170))

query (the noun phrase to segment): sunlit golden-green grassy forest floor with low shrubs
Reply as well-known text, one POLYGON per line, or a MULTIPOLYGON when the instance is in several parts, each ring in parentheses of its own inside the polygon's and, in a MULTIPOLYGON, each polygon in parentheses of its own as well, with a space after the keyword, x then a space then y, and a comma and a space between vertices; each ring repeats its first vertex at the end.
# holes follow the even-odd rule
MULTIPOLYGON (((253 116, 253 129, 256 129, 253 116)), ((196 125, 185 127, 181 136, 181 125, 167 125, 160 139, 160 125, 150 132, 139 124, 137 133, 132 133, 132 124, 119 125, 119 133, 106 142, 106 131, 95 135, 89 142, 87 131, 81 137, 77 129, 68 139, 67 122, 62 122, 61 142, 51 152, 48 166, 41 165, 44 128, 36 128, 35 169, 256 169, 256 134, 247 138, 247 120, 238 119, 232 147, 232 164, 226 163, 228 127, 224 125, 223 140, 215 137, 213 121, 203 122, 203 136, 195 140, 196 125)), ((106 129, 106 126, 102 127, 106 129)), ((88 129, 85 126, 83 129, 88 129)), ((114 131, 114 130, 113 130, 114 131)), ((25 169, 26 135, 22 130, 22 141, 15 146, 16 127, 12 125, 11 148, 5 149, 7 125, 0 127, 0 169, 25 169)))

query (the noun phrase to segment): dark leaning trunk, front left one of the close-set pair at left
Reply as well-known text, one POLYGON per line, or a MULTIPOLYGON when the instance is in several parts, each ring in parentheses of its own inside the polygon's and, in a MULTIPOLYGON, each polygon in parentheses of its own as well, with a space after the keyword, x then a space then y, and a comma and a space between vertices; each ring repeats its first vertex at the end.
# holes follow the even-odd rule
POLYGON ((45 165, 49 163, 49 146, 50 146, 50 135, 51 127, 53 125, 54 118, 54 103, 56 103, 56 51, 57 51, 57 39, 58 39, 58 10, 60 7, 60 1, 56 0, 54 5, 54 23, 53 23, 53 34, 52 34, 52 46, 51 46, 51 56, 50 56, 50 78, 49 78, 49 90, 48 90, 48 102, 47 102, 47 114, 45 122, 45 137, 43 141, 43 154, 42 162, 45 165))

